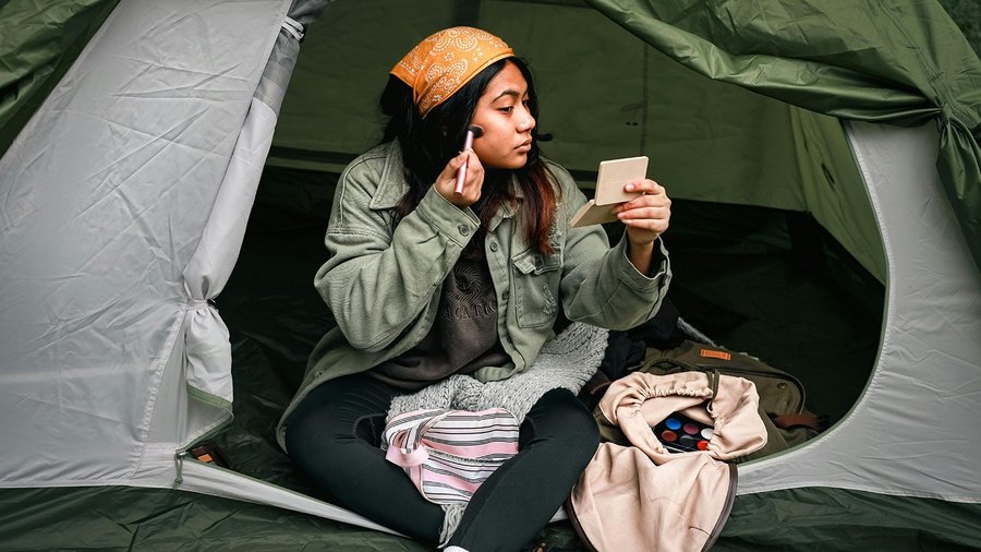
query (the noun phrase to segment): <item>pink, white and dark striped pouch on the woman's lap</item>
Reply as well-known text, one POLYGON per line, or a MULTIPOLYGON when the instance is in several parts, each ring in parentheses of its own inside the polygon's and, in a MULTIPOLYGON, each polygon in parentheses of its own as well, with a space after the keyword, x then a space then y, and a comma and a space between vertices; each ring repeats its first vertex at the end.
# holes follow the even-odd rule
POLYGON ((412 410, 385 427, 385 458, 404 468, 436 504, 465 504, 508 458, 518 454, 518 420, 502 408, 412 410))

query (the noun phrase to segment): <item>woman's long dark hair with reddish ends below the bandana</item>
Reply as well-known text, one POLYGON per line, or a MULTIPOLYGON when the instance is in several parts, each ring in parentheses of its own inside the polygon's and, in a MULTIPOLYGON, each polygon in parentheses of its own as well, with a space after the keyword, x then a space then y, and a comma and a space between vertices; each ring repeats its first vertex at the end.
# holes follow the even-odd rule
MULTIPOLYGON (((419 205, 446 164, 459 154, 477 100, 491 80, 507 63, 513 63, 528 82, 529 110, 537 119, 538 104, 531 71, 520 58, 505 58, 488 65, 446 101, 433 108, 426 118, 419 115, 419 109, 413 104, 412 88, 389 75, 380 99, 382 112, 388 116, 382 141, 398 140, 409 180, 409 192, 395 208, 396 225, 419 205)), ((537 127, 532 130, 532 137, 534 140, 524 167, 513 170, 486 169, 479 216, 481 228, 486 228, 491 217, 501 205, 517 203, 508 185, 513 175, 524 193, 524 203, 519 213, 525 239, 540 252, 553 253, 550 228, 560 191, 542 160, 537 127)))

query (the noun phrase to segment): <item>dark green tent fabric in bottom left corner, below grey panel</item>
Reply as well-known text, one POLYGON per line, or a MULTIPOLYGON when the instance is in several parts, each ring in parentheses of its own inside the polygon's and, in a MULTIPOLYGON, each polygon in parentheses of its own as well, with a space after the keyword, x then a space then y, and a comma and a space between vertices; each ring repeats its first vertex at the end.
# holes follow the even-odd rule
MULTIPOLYGON (((304 512, 134 487, 0 489, 0 549, 19 552, 433 550, 374 527, 304 512)), ((576 542, 574 533, 564 537, 576 542)))

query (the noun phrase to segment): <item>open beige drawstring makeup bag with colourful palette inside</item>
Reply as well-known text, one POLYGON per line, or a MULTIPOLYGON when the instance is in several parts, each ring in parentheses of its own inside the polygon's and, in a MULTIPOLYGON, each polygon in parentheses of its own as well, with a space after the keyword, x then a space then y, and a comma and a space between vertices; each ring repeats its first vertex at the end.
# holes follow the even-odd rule
POLYGON ((718 372, 633 372, 609 385, 598 408, 630 446, 602 443, 572 489, 566 509, 583 542, 600 551, 707 550, 735 497, 736 465, 724 460, 766 444, 753 383, 718 372), (690 422, 652 431, 679 415, 690 422), (695 422, 711 430, 698 432, 695 422), (667 442, 681 433, 703 446, 670 452, 667 442))

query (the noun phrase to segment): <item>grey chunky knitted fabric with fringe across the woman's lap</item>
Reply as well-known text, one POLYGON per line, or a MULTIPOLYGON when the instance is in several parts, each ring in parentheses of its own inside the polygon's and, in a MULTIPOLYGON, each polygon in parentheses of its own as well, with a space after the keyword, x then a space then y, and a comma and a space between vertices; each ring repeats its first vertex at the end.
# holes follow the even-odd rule
MULTIPOLYGON (((578 394, 603 361, 609 331, 581 322, 564 329, 545 344, 538 358, 523 372, 507 380, 481 383, 469 375, 451 375, 412 395, 396 397, 388 420, 400 413, 424 408, 484 410, 504 408, 518 423, 552 389, 569 389, 578 394)), ((446 545, 463 517, 463 504, 443 505, 444 520, 439 531, 440 547, 446 545)))

